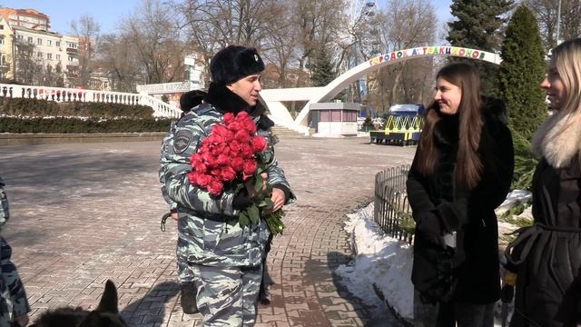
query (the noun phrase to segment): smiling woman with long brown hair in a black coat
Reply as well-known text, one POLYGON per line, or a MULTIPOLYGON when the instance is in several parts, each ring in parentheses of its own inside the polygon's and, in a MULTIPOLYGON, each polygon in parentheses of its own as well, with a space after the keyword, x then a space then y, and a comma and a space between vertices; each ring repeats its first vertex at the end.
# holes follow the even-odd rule
POLYGON ((480 96, 478 71, 437 75, 408 197, 416 221, 415 326, 493 326, 499 298, 497 216, 514 169, 504 104, 480 96))

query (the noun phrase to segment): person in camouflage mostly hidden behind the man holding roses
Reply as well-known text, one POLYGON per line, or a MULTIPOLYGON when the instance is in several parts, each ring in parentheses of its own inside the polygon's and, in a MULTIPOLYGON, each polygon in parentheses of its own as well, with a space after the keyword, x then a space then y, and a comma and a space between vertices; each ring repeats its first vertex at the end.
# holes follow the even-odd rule
MULTIPOLYGON (((206 96, 206 93, 201 90, 192 90, 188 91, 182 96, 180 96, 180 109, 182 109, 183 113, 182 116, 192 110, 194 107, 202 104, 203 98, 206 96)), ((173 134, 175 133, 175 124, 172 123, 170 127, 170 133, 165 136, 162 141, 162 155, 165 154, 165 146, 170 143, 173 138, 173 134)), ((160 171, 161 172, 161 171, 160 171)), ((160 182, 162 183, 162 196, 165 202, 170 205, 170 216, 176 222, 178 221, 178 213, 177 213, 177 203, 174 203, 172 199, 168 196, 165 190, 165 175, 160 173, 160 182)), ((164 220, 162 221, 164 223, 164 220)), ((180 237, 182 233, 178 233, 178 237, 180 237)), ((184 253, 180 251, 178 247, 176 250, 176 262, 178 267, 178 278, 180 280, 180 302, 182 303, 182 310, 185 313, 196 313, 198 312, 198 306, 196 305, 196 286, 193 282, 195 278, 192 269, 190 269, 190 265, 188 264, 188 258, 184 253)))

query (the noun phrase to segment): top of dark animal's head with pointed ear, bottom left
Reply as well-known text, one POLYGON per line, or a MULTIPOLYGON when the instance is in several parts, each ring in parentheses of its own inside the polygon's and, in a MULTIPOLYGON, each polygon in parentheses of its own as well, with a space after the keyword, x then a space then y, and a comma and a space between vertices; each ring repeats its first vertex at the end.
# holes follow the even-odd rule
POLYGON ((117 290, 110 280, 99 306, 92 312, 81 307, 62 307, 44 312, 30 327, 127 327, 119 315, 117 290))

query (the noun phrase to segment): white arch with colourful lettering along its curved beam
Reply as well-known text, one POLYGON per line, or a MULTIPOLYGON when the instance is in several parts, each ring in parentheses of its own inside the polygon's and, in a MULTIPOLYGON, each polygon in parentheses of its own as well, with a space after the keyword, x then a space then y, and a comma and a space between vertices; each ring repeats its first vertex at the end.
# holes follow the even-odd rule
POLYGON ((372 70, 379 70, 380 67, 386 64, 395 64, 404 60, 428 55, 458 56, 482 60, 492 64, 500 64, 502 61, 498 54, 478 49, 449 45, 419 46, 380 54, 375 58, 351 68, 349 71, 334 79, 330 84, 323 87, 267 89, 261 91, 261 98, 271 111, 271 118, 276 124, 307 134, 309 130, 307 127, 307 116, 309 114, 310 104, 329 101, 360 76, 369 74, 372 70), (281 101, 300 100, 308 100, 308 103, 305 104, 302 110, 300 110, 300 114, 293 121, 291 114, 281 104, 281 101))

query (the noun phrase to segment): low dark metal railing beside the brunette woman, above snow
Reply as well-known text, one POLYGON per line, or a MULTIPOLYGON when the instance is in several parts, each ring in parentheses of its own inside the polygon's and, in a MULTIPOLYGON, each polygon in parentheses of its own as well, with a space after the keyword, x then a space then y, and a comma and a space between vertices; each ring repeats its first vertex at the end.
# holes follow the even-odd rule
POLYGON ((392 167, 375 175, 373 219, 384 233, 412 243, 414 220, 406 193, 409 164, 392 167))

